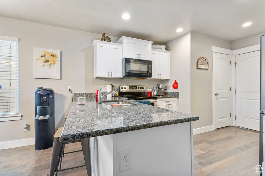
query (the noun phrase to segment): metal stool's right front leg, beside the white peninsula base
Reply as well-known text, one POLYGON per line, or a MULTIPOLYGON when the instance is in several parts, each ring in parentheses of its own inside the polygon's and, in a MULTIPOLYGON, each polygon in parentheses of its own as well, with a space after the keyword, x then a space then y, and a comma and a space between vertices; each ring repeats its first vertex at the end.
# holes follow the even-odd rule
POLYGON ((91 158, 90 158, 89 138, 81 139, 81 145, 83 149, 83 155, 85 158, 87 175, 91 176, 91 158))

